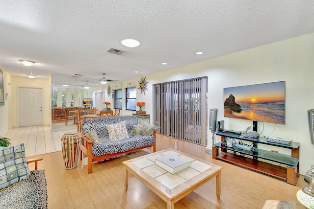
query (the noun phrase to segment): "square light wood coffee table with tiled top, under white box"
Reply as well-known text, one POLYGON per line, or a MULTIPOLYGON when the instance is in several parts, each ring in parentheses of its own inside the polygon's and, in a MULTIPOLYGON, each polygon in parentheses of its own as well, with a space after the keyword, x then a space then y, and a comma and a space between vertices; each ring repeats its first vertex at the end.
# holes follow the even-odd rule
POLYGON ((183 152, 165 149, 125 161, 123 164, 125 168, 125 191, 128 190, 130 172, 164 200, 168 209, 174 209, 176 202, 214 177, 216 177, 216 196, 220 198, 220 170, 222 167, 183 152), (190 167, 176 174, 171 174, 155 164, 156 158, 168 154, 175 154, 189 160, 191 162, 190 167))

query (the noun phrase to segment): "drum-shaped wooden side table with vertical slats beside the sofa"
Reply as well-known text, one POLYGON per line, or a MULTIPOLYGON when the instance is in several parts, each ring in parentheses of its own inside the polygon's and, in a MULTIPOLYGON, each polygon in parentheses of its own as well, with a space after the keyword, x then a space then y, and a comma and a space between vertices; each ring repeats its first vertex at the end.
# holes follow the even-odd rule
POLYGON ((65 169, 72 169, 78 166, 80 137, 77 132, 64 133, 61 138, 63 162, 65 169))

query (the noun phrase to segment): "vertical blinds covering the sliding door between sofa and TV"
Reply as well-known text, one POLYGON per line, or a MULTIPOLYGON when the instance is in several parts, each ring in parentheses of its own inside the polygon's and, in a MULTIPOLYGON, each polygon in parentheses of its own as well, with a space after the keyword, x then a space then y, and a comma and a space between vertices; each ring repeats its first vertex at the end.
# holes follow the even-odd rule
POLYGON ((154 119, 160 134, 207 142, 207 77, 154 85, 154 119))

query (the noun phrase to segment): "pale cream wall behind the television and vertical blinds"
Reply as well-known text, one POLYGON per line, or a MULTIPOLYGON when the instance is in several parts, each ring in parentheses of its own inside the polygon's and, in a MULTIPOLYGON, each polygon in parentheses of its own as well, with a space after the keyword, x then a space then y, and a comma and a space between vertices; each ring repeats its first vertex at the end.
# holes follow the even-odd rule
MULTIPOLYGON (((242 131, 252 121, 223 116, 223 88, 286 81, 286 125, 264 123, 263 133, 270 134, 275 128, 272 136, 300 142, 300 173, 305 174, 314 163, 307 117, 307 110, 314 108, 313 66, 314 33, 147 75, 149 91, 145 95, 138 92, 137 101, 145 101, 145 110, 152 115, 153 84, 208 76, 208 110, 218 108, 218 120, 225 120, 226 128, 242 131)), ((124 83, 138 80, 140 77, 124 83)), ((207 141, 211 146, 211 134, 207 141)))

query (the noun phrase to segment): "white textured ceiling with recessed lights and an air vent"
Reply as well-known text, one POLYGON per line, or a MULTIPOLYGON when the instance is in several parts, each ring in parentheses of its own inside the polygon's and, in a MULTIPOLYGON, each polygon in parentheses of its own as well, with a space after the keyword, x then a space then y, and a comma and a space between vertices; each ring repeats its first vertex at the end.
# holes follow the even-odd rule
POLYGON ((36 78, 93 85, 313 33, 313 20, 313 0, 1 0, 0 66, 25 77, 19 60, 32 60, 36 78))

